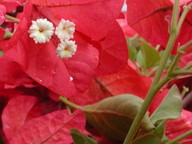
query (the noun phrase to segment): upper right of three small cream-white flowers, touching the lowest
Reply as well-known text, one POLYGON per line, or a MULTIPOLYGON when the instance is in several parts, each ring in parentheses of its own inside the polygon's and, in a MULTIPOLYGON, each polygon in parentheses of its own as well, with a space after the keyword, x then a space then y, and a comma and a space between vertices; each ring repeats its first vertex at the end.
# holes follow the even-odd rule
POLYGON ((68 20, 61 19, 60 23, 56 27, 55 34, 61 41, 73 38, 75 32, 75 24, 68 20))

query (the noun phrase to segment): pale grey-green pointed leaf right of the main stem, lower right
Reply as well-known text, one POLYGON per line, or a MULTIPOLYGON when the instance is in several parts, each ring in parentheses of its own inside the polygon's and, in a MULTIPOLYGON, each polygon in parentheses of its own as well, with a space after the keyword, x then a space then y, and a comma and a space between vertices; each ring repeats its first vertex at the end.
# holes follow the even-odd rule
POLYGON ((160 106, 152 114, 151 120, 156 123, 158 120, 178 118, 182 111, 181 94, 176 85, 169 90, 160 106))

